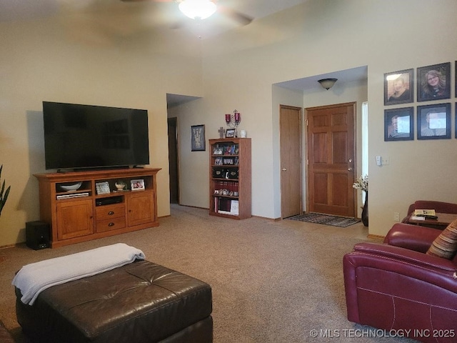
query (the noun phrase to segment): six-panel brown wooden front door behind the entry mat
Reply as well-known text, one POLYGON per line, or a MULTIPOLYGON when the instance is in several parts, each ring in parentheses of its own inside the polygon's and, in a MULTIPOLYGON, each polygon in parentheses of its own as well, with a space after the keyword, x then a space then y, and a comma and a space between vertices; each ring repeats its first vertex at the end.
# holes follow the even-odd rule
POLYGON ((355 105, 306 109, 309 212, 355 217, 355 105))

